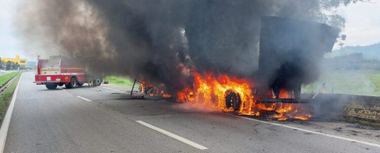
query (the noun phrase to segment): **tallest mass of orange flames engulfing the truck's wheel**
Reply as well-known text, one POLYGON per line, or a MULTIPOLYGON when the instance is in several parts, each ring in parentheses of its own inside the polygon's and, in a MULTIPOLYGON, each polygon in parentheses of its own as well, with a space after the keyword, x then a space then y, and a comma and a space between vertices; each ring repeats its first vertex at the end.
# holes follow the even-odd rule
POLYGON ((254 99, 248 81, 236 78, 231 79, 227 75, 214 78, 212 74, 206 74, 203 78, 198 73, 194 74, 194 80, 195 91, 185 88, 183 91, 178 92, 179 100, 191 101, 195 104, 202 103, 205 107, 216 110, 234 111, 232 107, 227 108, 225 105, 225 94, 226 91, 230 90, 240 96, 242 101, 238 110, 240 114, 258 116, 258 112, 251 110, 254 99))

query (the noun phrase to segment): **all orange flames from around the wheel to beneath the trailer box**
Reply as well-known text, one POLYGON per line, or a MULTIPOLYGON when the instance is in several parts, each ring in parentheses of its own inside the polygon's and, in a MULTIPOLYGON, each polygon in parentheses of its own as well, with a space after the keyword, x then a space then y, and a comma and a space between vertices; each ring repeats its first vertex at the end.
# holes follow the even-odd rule
MULTIPOLYGON (((185 88, 177 93, 177 99, 192 102, 194 103, 193 106, 203 104, 202 107, 208 109, 230 112, 234 111, 234 109, 232 107, 227 108, 225 104, 227 91, 232 91, 239 95, 241 99, 240 109, 237 110, 239 114, 260 116, 260 110, 275 111, 277 115, 274 115, 273 118, 279 121, 284 121, 288 118, 309 120, 312 117, 310 113, 305 116, 300 115, 298 107, 293 107, 293 104, 272 103, 267 106, 263 103, 256 103, 247 80, 230 78, 227 75, 215 78, 210 73, 206 74, 205 77, 194 73, 194 90, 185 88)), ((288 98, 288 96, 285 89, 280 90, 279 98, 288 98)))

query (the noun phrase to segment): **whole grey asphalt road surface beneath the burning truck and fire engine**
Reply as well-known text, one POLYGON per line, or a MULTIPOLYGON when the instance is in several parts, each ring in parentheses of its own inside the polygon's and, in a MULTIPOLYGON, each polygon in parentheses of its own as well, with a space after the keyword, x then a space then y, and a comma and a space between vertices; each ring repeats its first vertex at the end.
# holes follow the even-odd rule
POLYGON ((127 100, 130 89, 119 86, 47 90, 32 82, 32 72, 22 75, 5 152, 380 152, 375 127, 267 122, 175 102, 127 100))

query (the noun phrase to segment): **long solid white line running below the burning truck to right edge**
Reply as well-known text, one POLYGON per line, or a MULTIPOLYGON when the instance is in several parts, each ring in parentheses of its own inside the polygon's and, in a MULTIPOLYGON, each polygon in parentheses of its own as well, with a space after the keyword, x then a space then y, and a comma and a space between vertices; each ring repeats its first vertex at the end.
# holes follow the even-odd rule
POLYGON ((340 137, 340 136, 336 136, 336 135, 330 135, 330 134, 326 134, 326 133, 320 133, 320 132, 315 132, 315 131, 310 131, 310 130, 300 129, 300 128, 291 127, 291 126, 287 126, 287 125, 282 125, 282 124, 277 124, 277 123, 271 123, 271 122, 267 122, 267 121, 260 121, 260 120, 251 119, 251 118, 246 118, 246 117, 241 117, 241 116, 234 116, 234 115, 232 115, 232 114, 228 114, 228 113, 224 113, 224 114, 227 114, 227 115, 229 115, 229 116, 233 116, 233 117, 238 117, 238 118, 246 119, 246 120, 251 120, 251 121, 256 121, 256 122, 261 122, 261 123, 271 124, 271 125, 275 125, 275 126, 280 126, 280 127, 284 127, 284 128, 289 128, 289 129, 299 130, 299 131, 303 131, 303 132, 309 132, 309 133, 319 134, 319 135, 323 135, 323 136, 327 136, 327 137, 331 137, 331 138, 337 138, 337 139, 342 139, 342 140, 347 140, 347 141, 352 141, 352 142, 357 142, 357 143, 362 143, 362 144, 367 144, 367 145, 372 145, 372 146, 380 147, 380 144, 376 144, 376 143, 365 142, 365 141, 360 141, 360 140, 355 140, 355 139, 350 139, 350 138, 340 137))

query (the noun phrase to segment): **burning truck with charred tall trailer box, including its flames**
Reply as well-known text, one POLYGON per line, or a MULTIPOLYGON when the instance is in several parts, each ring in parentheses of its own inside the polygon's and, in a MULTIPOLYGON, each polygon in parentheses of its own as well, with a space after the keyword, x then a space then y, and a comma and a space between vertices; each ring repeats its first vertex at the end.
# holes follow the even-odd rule
MULTIPOLYGON (((331 49, 339 29, 322 23, 283 17, 261 17, 259 67, 252 77, 239 79, 226 74, 198 73, 196 67, 183 66, 182 73, 194 79, 193 86, 178 91, 176 99, 209 109, 236 111, 260 116, 275 112, 271 118, 308 120, 312 114, 299 103, 301 85, 316 81, 319 63, 331 49)), ((139 82, 140 92, 149 96, 171 97, 165 85, 139 82)))

